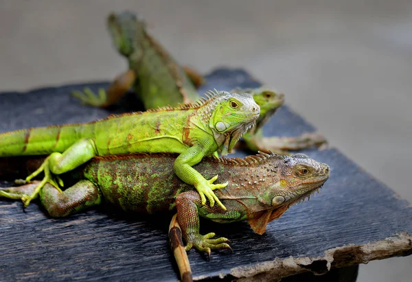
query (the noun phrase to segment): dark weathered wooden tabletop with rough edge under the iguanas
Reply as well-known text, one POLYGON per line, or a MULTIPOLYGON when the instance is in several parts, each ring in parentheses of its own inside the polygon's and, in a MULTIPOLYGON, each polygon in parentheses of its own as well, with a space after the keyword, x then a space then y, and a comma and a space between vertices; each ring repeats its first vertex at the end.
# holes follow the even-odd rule
MULTIPOLYGON (((218 69, 207 75, 207 82, 201 93, 260 85, 246 72, 233 69, 218 69)), ((93 91, 107 85, 87 84, 93 91)), ((107 110, 80 106, 69 92, 84 86, 1 94, 0 132, 92 121, 109 113, 137 110, 132 106, 132 93, 107 110)), ((265 135, 294 136, 313 130, 285 106, 265 126, 265 135)), ((194 279, 274 280, 411 254, 412 209, 408 202, 334 148, 305 153, 331 167, 330 180, 319 195, 291 207, 268 224, 262 236, 253 233, 246 222, 202 220, 201 232, 214 231, 229 238, 233 253, 215 252, 206 261, 190 251, 194 279)), ((247 152, 236 152, 232 156, 245 155, 247 152)), ((23 211, 21 202, 0 200, 0 280, 176 281, 179 274, 167 237, 170 218, 131 218, 100 207, 53 219, 36 202, 23 211)))

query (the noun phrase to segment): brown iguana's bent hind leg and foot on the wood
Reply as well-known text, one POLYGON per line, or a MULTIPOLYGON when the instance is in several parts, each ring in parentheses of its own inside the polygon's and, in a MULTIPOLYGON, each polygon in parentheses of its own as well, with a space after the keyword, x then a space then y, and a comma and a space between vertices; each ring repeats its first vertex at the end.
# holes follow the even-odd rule
MULTIPOLYGON (((30 196, 36 190, 40 181, 18 187, 0 188, 0 197, 19 200, 30 196)), ((41 204, 49 215, 62 218, 102 202, 100 190, 89 180, 80 180, 65 191, 60 191, 51 183, 46 183, 40 191, 41 204)))

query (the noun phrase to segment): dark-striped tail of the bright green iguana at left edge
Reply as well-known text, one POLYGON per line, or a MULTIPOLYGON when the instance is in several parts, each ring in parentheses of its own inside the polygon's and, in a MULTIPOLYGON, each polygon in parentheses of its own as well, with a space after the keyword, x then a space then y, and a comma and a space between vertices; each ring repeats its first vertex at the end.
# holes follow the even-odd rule
POLYGON ((0 133, 0 157, 63 152, 81 137, 81 125, 47 126, 0 133))

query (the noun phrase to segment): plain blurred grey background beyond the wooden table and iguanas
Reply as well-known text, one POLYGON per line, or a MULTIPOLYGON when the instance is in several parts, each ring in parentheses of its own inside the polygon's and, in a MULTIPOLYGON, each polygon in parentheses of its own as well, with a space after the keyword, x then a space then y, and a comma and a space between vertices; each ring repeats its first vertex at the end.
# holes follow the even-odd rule
MULTIPOLYGON (((242 67, 284 92, 332 145, 412 202, 412 1, 5 0, 0 91, 125 71, 105 25, 122 10, 145 19, 181 64, 242 67)), ((412 257, 371 261, 358 281, 411 281, 411 266, 412 257)))

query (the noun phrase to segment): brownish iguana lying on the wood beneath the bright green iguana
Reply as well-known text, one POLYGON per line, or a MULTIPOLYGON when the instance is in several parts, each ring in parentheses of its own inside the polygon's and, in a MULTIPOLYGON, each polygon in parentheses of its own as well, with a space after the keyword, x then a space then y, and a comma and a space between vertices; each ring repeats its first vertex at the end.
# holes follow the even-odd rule
MULTIPOLYGON (((210 255, 211 250, 230 249, 230 246, 224 237, 212 239, 214 233, 201 235, 199 216, 220 223, 247 220, 255 233, 262 234, 268 222, 279 218, 292 204, 310 198, 330 175, 328 165, 304 154, 279 156, 260 152, 246 158, 203 158, 194 167, 198 172, 207 178, 218 172, 220 181, 230 182, 225 189, 216 190, 227 207, 224 210, 202 205, 192 185, 183 183, 174 174, 176 156, 95 157, 69 173, 79 181, 65 191, 46 183, 40 191, 41 204, 55 218, 82 211, 102 200, 132 213, 153 214, 176 209, 186 250, 194 247, 210 255)), ((36 185, 0 188, 0 196, 25 200, 33 194, 36 185)), ((176 259, 181 266, 179 256, 176 259)), ((188 277, 188 274, 181 275, 188 277)))

